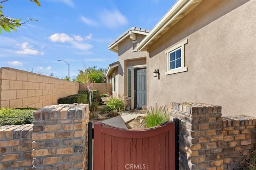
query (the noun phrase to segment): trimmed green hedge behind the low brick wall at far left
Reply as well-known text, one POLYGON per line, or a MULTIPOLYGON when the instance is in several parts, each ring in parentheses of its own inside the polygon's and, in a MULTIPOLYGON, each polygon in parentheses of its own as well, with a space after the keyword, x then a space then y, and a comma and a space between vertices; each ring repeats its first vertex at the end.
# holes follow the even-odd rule
POLYGON ((0 109, 0 125, 23 125, 33 122, 33 109, 0 109))

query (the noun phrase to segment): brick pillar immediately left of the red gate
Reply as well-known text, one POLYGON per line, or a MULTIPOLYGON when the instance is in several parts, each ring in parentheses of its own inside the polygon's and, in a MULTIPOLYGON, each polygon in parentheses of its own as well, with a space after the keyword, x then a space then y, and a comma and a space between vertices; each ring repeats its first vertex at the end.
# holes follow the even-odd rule
POLYGON ((59 104, 34 111, 33 169, 87 169, 89 104, 59 104))

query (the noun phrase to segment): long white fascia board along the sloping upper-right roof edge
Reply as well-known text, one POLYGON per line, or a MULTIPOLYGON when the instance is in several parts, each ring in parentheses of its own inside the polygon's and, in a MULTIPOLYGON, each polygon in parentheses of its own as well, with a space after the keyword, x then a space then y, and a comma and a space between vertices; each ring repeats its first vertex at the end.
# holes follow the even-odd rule
MULTIPOLYGON (((193 0, 190 0, 189 3, 191 3, 193 0)), ((186 2, 188 2, 188 0, 178 0, 171 8, 170 10, 163 16, 163 18, 158 21, 158 23, 154 26, 154 28, 148 33, 148 35, 140 42, 140 44, 137 46, 137 49, 139 51, 141 51, 146 45, 148 45, 148 43, 158 34, 160 33, 161 28, 164 29, 164 25, 167 26, 167 22, 168 20, 170 20, 170 18, 174 19, 174 16, 178 16, 175 15, 177 14, 176 12, 178 10, 180 10, 180 8, 182 8, 182 6, 184 4, 186 4, 186 2)), ((184 9, 184 8, 183 8, 184 9)), ((170 23, 170 21, 168 22, 170 23)))

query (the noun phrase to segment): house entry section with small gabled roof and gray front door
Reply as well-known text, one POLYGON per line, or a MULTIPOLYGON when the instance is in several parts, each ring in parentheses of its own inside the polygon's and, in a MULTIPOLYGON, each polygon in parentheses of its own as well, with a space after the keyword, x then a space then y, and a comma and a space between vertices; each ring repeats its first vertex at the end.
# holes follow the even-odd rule
POLYGON ((136 47, 149 31, 132 27, 108 45, 108 49, 118 53, 118 61, 109 65, 106 82, 112 83, 113 93, 128 96, 129 106, 132 109, 140 108, 147 102, 146 58, 148 52, 139 52, 136 47))

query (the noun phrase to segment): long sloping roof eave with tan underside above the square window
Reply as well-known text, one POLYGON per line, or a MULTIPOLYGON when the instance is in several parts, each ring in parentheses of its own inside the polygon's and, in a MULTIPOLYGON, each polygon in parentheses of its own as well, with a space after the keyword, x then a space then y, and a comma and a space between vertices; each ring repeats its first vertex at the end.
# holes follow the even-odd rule
POLYGON ((148 47, 161 37, 168 29, 181 20, 188 12, 195 8, 202 0, 177 0, 177 2, 168 10, 153 29, 137 45, 138 51, 147 51, 148 47))

